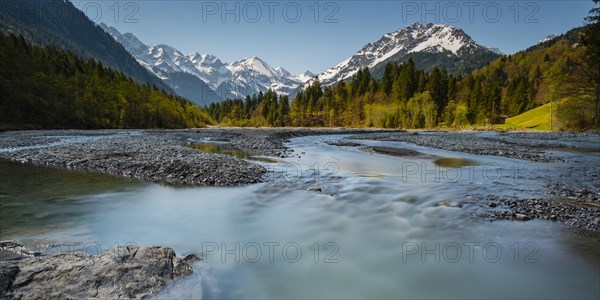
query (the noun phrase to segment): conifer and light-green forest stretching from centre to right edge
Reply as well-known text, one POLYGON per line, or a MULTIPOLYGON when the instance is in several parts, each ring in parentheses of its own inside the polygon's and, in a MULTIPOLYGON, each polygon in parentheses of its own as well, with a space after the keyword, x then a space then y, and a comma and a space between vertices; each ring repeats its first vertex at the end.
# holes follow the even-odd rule
POLYGON ((502 56, 465 76, 437 67, 425 72, 410 59, 387 64, 381 80, 368 68, 333 86, 323 87, 316 79, 289 108, 270 91, 214 104, 209 111, 215 120, 233 125, 456 128, 490 125, 552 100, 559 127, 597 127, 593 90, 574 84, 587 82, 585 57, 594 46, 582 45, 582 36, 591 26, 502 56))

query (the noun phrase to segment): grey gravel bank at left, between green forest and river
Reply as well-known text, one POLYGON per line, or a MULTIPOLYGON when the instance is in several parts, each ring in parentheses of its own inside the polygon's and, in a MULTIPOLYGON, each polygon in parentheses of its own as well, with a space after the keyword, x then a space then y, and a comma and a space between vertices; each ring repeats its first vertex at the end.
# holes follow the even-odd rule
POLYGON ((259 182, 266 173, 260 165, 188 147, 195 137, 191 133, 17 132, 4 133, 1 137, 4 149, 9 150, 0 152, 0 157, 6 159, 143 181, 239 185, 259 182), (48 141, 43 140, 44 136, 48 141))

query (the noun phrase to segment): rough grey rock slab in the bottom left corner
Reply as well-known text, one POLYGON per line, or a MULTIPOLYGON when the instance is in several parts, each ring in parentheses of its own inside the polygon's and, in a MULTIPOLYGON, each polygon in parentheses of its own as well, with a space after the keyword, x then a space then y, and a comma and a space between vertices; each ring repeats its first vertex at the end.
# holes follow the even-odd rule
POLYGON ((97 255, 59 253, 0 262, 0 298, 146 298, 192 273, 166 247, 126 246, 97 255))

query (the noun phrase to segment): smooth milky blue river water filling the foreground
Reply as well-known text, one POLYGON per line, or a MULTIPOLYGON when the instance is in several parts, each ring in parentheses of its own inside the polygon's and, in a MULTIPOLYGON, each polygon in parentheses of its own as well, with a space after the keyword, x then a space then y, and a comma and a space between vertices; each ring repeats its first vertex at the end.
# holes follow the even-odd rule
POLYGON ((293 157, 263 163, 267 182, 241 187, 0 162, 0 238, 202 256, 168 298, 600 295, 597 244, 556 223, 471 216, 477 195, 542 195, 559 165, 362 141, 424 154, 396 157, 324 143, 333 138, 293 139, 293 157))

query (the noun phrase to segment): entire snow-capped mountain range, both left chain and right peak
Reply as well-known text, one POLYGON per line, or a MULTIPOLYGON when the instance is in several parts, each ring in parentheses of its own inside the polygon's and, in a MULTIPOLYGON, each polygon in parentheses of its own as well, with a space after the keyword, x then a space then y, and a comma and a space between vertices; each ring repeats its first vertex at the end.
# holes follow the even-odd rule
MULTIPOLYGON (((292 75, 281 67, 272 68, 256 56, 226 63, 210 54, 185 55, 168 45, 144 44, 133 34, 121 34, 105 24, 100 27, 176 93, 196 103, 241 98, 268 89, 293 95, 315 77, 309 71, 292 75)), ((381 77, 387 63, 402 63, 409 58, 421 69, 431 70, 437 66, 452 73, 467 73, 500 54, 499 49, 481 46, 453 26, 414 23, 368 43, 352 57, 318 76, 323 85, 331 85, 369 67, 375 77, 381 77)))

